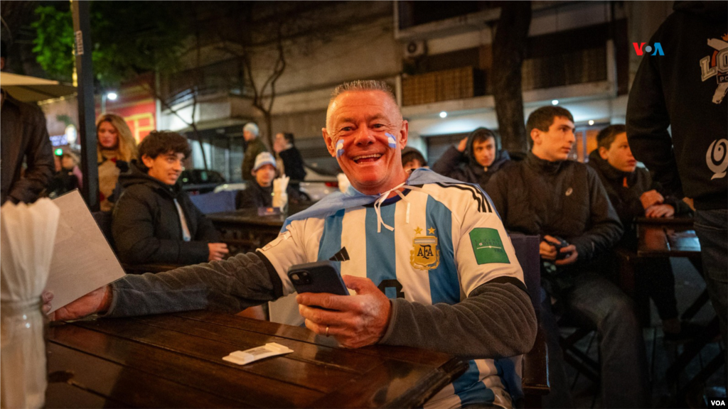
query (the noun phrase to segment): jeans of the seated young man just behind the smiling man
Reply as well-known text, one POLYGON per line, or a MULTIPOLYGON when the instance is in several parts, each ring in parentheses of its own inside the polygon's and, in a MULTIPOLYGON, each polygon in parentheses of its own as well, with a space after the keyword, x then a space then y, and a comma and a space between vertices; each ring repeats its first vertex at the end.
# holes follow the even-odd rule
MULTIPOLYGON (((601 352, 601 400, 604 409, 649 408, 649 379, 642 327, 632 300, 599 274, 585 272, 574 278, 574 286, 563 293, 569 317, 593 327, 599 335, 601 352)), ((541 307, 541 324, 546 330, 551 393, 544 408, 571 409, 571 386, 559 345, 559 332, 550 296, 541 307)))

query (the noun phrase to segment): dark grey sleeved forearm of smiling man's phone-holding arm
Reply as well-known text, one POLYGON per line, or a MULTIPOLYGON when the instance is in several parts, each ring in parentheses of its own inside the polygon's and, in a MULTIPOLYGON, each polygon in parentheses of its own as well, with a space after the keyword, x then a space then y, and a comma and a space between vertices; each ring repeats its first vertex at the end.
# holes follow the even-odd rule
POLYGON ((512 357, 534 344, 537 322, 529 295, 514 284, 488 282, 455 305, 392 301, 380 344, 415 346, 462 359, 512 357))

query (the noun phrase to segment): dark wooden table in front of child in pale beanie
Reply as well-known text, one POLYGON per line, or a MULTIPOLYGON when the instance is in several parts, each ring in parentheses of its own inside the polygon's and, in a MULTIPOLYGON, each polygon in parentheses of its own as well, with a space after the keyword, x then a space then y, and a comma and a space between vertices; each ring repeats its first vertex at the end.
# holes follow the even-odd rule
MULTIPOLYGON (((290 205, 289 215, 308 208, 310 204, 290 205)), ((206 215, 220 231, 222 241, 234 250, 248 252, 272 242, 278 237, 285 222, 285 215, 258 215, 257 209, 240 209, 232 212, 206 215)))

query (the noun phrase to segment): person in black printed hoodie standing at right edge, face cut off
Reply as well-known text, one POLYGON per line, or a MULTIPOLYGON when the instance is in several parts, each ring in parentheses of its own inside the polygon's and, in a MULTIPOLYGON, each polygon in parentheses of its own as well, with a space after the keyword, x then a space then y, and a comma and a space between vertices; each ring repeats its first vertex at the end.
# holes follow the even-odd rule
POLYGON ((635 76, 627 106, 627 136, 654 180, 695 204, 703 273, 725 341, 728 1, 676 0, 673 8, 675 12, 650 40, 654 52, 644 53, 635 76))

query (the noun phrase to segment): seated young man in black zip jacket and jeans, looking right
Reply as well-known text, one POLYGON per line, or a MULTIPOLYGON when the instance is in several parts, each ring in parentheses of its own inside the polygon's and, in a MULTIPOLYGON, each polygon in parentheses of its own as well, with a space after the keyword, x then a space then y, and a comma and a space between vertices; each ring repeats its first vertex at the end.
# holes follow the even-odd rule
POLYGON ((547 294, 541 321, 551 381, 545 408, 574 408, 554 310, 598 328, 602 407, 647 408, 646 354, 633 303, 598 274, 595 262, 622 236, 617 214, 596 172, 566 160, 574 143, 569 111, 539 108, 529 116, 526 130, 531 152, 496 173, 486 190, 508 231, 542 237, 539 253, 547 294))

